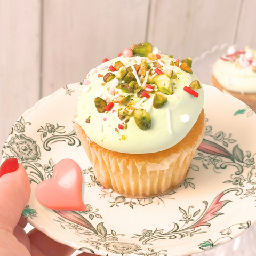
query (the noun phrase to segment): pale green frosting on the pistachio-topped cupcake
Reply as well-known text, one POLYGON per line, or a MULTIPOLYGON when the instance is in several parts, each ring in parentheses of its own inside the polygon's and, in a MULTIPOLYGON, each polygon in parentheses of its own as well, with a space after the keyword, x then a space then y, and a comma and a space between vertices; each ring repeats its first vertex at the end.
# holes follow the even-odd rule
MULTIPOLYGON (((110 100, 113 99, 107 90, 111 87, 111 81, 102 86, 102 77, 109 72, 108 68, 104 68, 109 67, 110 65, 114 66, 116 61, 121 61, 127 68, 130 65, 140 64, 143 60, 147 60, 149 65, 153 68, 151 69, 153 75, 155 67, 153 67, 152 61, 149 61, 148 58, 124 58, 121 56, 102 63, 97 67, 97 69, 91 70, 84 82, 84 84, 87 84, 90 81, 90 84, 81 85, 82 94, 78 101, 77 118, 75 121, 82 127, 92 141, 103 148, 128 154, 155 153, 165 150, 177 144, 187 135, 196 123, 197 118, 202 111, 204 102, 203 89, 195 90, 199 94, 198 98, 183 90, 184 86, 189 87, 191 82, 199 80, 197 75, 194 73, 187 73, 179 67, 170 66, 171 60, 175 61, 175 59, 170 59, 167 55, 161 54, 161 60, 164 60, 164 64, 174 68, 178 73, 175 73, 177 76, 174 76, 177 78, 171 79, 173 94, 167 95, 163 93, 167 98, 167 102, 163 107, 158 109, 154 107, 150 108, 153 104, 153 98, 155 95, 155 93, 151 92, 148 92, 150 98, 143 101, 139 106, 144 110, 148 110, 148 114, 151 117, 151 127, 148 130, 139 129, 133 116, 130 117, 125 129, 125 119, 120 120, 118 118, 118 109, 124 109, 125 104, 115 103, 114 107, 109 112, 106 111, 104 113, 99 113, 94 105, 94 98, 101 97, 104 99, 104 97, 107 96, 110 100), (98 77, 99 74, 102 76, 98 77), (90 90, 86 92, 89 86, 90 90), (171 132, 170 124, 168 124, 168 112, 170 113, 171 132), (186 123, 182 122, 182 115, 188 115, 189 121, 186 123), (88 122, 89 116, 90 122, 88 122), (124 128, 119 129, 119 124, 123 125, 124 128)), ((166 70, 166 68, 163 68, 163 71, 164 70, 166 70)), ((115 74, 117 72, 118 71, 114 71, 113 73, 115 74)), ((119 79, 120 83, 121 81, 122 79, 119 79)), ((115 90, 121 95, 129 95, 122 92, 121 89, 115 90)), ((154 91, 162 93, 157 90, 156 85, 154 85, 154 91)), ((132 95, 131 99, 133 99, 132 102, 138 102, 141 100, 141 98, 137 98, 134 95, 132 95)))

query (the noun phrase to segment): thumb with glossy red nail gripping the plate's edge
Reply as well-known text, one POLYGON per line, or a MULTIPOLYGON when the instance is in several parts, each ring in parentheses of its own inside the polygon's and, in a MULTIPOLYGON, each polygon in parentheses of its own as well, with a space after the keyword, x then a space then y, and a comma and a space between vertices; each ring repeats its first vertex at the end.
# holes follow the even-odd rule
POLYGON ((24 167, 16 158, 5 160, 0 166, 0 229, 13 232, 29 197, 30 184, 24 167))

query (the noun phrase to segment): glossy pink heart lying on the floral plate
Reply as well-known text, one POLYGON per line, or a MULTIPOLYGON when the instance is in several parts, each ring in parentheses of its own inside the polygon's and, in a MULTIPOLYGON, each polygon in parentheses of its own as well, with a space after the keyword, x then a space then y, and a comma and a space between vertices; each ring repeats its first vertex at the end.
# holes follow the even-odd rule
POLYGON ((39 203, 52 210, 85 211, 82 181, 79 165, 63 159, 54 166, 52 178, 37 185, 35 195, 39 203))

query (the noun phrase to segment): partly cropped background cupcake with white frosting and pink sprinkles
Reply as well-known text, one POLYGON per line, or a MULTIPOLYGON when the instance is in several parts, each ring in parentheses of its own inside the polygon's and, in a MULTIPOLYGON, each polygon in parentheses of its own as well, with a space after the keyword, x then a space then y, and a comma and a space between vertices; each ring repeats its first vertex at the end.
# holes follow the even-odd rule
POLYGON ((256 111, 256 50, 236 51, 233 46, 213 66, 211 83, 256 111))

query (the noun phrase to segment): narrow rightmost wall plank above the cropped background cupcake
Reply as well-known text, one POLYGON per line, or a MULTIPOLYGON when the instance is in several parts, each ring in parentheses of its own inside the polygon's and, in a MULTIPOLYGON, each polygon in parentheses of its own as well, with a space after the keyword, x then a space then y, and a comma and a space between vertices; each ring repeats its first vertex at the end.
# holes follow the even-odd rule
POLYGON ((256 49, 256 1, 244 0, 241 6, 235 45, 238 48, 249 46, 256 49))

